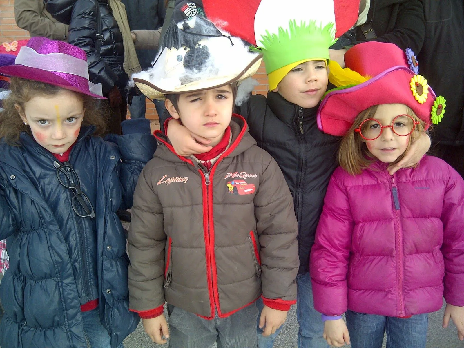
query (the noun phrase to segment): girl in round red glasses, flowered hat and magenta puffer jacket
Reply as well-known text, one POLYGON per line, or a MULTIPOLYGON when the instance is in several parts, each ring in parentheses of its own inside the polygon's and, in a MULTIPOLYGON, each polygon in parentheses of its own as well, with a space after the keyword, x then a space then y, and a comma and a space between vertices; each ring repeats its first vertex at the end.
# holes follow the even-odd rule
POLYGON ((310 255, 314 305, 335 347, 380 348, 386 332, 387 348, 425 348, 427 314, 443 296, 443 325, 451 317, 464 340, 464 181, 427 155, 387 170, 446 107, 406 52, 354 46, 347 66, 366 82, 329 92, 318 110, 319 128, 343 135, 310 255))

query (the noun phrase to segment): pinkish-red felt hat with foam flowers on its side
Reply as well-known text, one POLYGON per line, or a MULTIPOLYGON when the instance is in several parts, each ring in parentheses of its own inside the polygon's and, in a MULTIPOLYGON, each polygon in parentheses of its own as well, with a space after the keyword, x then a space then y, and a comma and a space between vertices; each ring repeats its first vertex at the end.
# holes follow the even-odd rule
POLYGON ((317 125, 324 133, 345 135, 361 111, 380 104, 409 106, 426 129, 443 117, 444 98, 437 99, 427 80, 411 70, 418 67, 413 52, 406 57, 394 44, 364 42, 348 50, 345 65, 369 79, 327 93, 317 111, 317 125))

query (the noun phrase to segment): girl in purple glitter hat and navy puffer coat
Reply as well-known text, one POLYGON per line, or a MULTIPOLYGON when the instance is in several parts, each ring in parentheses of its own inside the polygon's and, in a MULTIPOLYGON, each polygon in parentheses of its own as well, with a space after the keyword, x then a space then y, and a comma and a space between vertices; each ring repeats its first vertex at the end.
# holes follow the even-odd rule
POLYGON ((0 113, 2 348, 121 348, 129 312, 126 238, 116 215, 155 152, 148 120, 105 141, 101 86, 80 48, 42 37, 21 47, 0 113))

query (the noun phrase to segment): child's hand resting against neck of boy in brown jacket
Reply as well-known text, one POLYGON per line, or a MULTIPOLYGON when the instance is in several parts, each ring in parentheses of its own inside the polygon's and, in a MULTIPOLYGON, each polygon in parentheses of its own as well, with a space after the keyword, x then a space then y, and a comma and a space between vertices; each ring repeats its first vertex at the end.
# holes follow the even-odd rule
POLYGON ((179 156, 202 154, 212 149, 211 146, 207 146, 210 140, 193 134, 176 119, 168 122, 168 138, 179 156))

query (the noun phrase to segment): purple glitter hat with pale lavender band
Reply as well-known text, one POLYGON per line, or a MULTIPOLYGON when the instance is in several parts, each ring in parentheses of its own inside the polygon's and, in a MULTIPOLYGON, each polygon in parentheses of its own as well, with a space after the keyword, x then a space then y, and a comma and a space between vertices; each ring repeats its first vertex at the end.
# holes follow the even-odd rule
POLYGON ((84 50, 42 37, 29 39, 20 48, 14 65, 0 67, 0 74, 53 84, 66 90, 103 97, 102 85, 89 81, 84 50))

